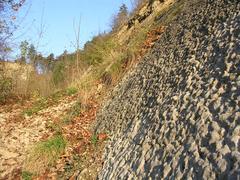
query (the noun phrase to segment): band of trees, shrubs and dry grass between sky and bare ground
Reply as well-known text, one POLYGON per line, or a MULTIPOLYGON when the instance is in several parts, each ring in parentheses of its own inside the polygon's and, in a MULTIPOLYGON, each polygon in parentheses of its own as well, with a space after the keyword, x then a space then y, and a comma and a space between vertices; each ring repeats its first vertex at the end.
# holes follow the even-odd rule
POLYGON ((149 30, 147 27, 140 27, 135 30, 134 37, 129 39, 127 44, 119 43, 117 38, 119 29, 129 25, 129 20, 136 15, 145 0, 132 2, 135 8, 131 12, 125 4, 122 4, 119 11, 113 15, 111 31, 97 34, 82 49, 79 47, 80 27, 74 29, 76 40, 73 53, 65 50, 57 57, 53 53, 44 56, 38 51, 38 45, 22 41, 19 45, 19 58, 14 59, 19 67, 18 71, 15 70, 9 76, 4 61, 8 60, 8 54, 11 52, 9 41, 18 28, 14 24, 16 14, 24 2, 24 0, 11 0, 1 1, 0 4, 2 24, 0 102, 2 103, 9 97, 26 98, 33 95, 46 97, 67 88, 85 91, 98 83, 111 86, 118 81, 126 66, 136 60, 149 30), (22 78, 22 73, 25 74, 25 78, 22 78))

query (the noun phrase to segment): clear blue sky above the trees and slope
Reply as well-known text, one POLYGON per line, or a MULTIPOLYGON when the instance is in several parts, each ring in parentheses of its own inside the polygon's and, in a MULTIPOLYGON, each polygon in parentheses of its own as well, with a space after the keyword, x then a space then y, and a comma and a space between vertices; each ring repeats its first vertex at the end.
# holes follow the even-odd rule
POLYGON ((77 26, 81 19, 82 47, 99 31, 109 30, 111 17, 122 3, 132 8, 131 0, 27 0, 18 15, 18 19, 23 21, 15 36, 20 35, 18 42, 27 40, 34 43, 43 55, 60 55, 64 49, 72 52, 74 21, 77 26), (44 30, 41 38, 40 29, 44 30))

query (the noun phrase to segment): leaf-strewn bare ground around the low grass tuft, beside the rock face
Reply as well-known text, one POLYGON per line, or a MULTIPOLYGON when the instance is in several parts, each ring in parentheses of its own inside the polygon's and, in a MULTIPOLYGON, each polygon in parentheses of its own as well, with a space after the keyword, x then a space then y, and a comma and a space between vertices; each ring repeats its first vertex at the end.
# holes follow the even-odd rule
POLYGON ((77 100, 77 95, 63 97, 31 116, 27 116, 24 110, 30 108, 33 102, 0 106, 0 179, 21 179, 29 151, 37 142, 54 135, 55 130, 49 128, 49 124, 61 124, 67 147, 54 166, 42 174, 32 174, 31 178, 79 176, 92 179, 96 176, 100 170, 103 143, 99 143, 98 137, 96 142, 92 142, 90 127, 95 120, 97 103, 89 99, 86 110, 72 118, 71 122, 61 123, 77 100))

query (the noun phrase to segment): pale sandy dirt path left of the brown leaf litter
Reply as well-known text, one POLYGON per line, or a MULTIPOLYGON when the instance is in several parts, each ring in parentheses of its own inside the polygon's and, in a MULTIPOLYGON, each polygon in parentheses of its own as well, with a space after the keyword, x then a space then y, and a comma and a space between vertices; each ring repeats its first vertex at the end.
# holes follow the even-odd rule
POLYGON ((0 107, 0 179, 19 178, 27 150, 51 134, 47 122, 62 116, 74 103, 74 99, 67 97, 30 117, 22 115, 21 106, 13 106, 10 111, 0 107))

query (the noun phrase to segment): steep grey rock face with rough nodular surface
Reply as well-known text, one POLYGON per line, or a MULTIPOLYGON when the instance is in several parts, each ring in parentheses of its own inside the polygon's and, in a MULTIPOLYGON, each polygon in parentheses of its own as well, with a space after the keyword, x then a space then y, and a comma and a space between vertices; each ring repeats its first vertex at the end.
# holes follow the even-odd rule
POLYGON ((240 178, 239 1, 187 1, 97 122, 99 179, 240 178))

